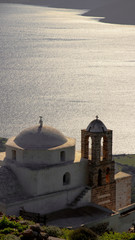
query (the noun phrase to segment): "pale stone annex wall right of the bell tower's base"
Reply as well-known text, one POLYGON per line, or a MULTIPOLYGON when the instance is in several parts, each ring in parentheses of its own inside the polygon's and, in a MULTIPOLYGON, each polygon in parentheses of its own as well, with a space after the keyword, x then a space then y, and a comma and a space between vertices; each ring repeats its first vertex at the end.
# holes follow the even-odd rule
POLYGON ((131 176, 116 179, 116 210, 131 204, 131 176))

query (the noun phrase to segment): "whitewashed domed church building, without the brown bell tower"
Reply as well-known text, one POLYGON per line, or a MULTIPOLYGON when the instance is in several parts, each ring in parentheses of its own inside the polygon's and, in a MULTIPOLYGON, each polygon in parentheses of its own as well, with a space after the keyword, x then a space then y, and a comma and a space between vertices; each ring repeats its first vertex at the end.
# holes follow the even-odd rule
POLYGON ((7 141, 2 165, 0 211, 7 214, 66 208, 87 186, 87 160, 75 153, 75 139, 42 123, 7 141))

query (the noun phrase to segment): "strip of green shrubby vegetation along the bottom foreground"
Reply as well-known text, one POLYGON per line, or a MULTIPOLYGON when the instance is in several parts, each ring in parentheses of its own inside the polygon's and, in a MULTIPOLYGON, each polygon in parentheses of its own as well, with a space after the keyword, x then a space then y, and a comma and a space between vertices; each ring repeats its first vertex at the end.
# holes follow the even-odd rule
MULTIPOLYGON (((21 217, 6 217, 0 218, 0 239, 1 240, 22 240, 24 232, 31 229, 44 231, 47 236, 53 236, 66 240, 135 240, 135 233, 116 233, 107 232, 107 224, 101 224, 92 229, 80 227, 75 230, 69 230, 56 226, 38 226, 31 225, 33 222, 24 221, 21 217)), ((35 230, 34 230, 35 231, 35 230)), ((31 233, 31 232, 29 232, 31 233)), ((27 232, 28 234, 28 232, 27 232)), ((25 239, 28 239, 27 237, 25 239)), ((33 238, 32 238, 33 239, 33 238)), ((35 238, 34 238, 35 239, 35 238)), ((44 238, 42 238, 44 239, 44 238)), ((47 239, 47 238, 45 238, 47 239)))

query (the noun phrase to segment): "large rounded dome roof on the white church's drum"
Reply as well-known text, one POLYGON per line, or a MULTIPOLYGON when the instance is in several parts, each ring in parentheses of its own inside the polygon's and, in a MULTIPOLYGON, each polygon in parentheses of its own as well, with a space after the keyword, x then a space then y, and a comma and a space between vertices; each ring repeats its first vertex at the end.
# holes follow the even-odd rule
POLYGON ((27 128, 18 134, 14 142, 21 148, 52 148, 67 142, 66 137, 57 129, 38 125, 27 128))

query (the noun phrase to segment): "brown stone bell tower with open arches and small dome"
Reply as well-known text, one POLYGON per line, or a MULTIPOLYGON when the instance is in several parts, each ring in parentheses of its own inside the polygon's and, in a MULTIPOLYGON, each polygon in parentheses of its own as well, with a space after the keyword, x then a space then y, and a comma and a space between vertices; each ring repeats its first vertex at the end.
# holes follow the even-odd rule
POLYGON ((115 210, 116 182, 112 161, 112 130, 108 130, 98 116, 87 129, 81 131, 81 157, 88 159, 91 201, 115 210))

